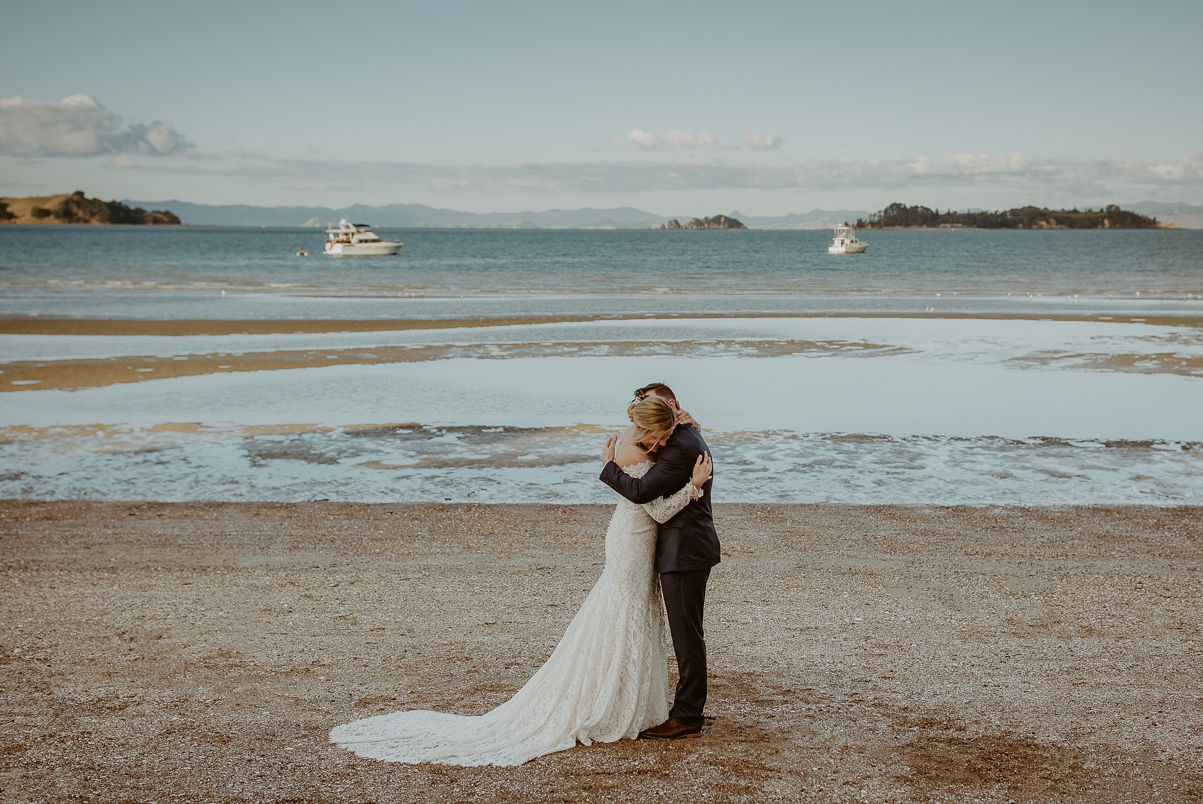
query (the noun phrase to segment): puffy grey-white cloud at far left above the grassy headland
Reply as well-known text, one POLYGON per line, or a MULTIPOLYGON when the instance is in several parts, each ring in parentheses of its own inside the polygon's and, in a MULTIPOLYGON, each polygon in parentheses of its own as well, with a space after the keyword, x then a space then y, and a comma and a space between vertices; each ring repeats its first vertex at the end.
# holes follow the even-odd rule
POLYGON ((191 148, 171 124, 131 125, 91 95, 61 101, 0 99, 0 154, 12 156, 96 156, 172 154, 191 148))

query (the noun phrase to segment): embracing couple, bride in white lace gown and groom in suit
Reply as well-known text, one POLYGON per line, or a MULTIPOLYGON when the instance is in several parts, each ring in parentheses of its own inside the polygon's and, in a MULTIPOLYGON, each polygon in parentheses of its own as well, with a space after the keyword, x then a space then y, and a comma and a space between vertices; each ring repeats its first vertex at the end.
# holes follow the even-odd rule
POLYGON ((514 766, 577 743, 701 733, 703 607, 721 560, 710 448, 663 383, 636 391, 627 413, 632 425, 602 454, 602 481, 622 495, 605 568, 543 667, 488 714, 395 711, 338 726, 331 742, 389 762, 514 766), (665 612, 680 677, 671 709, 665 612))

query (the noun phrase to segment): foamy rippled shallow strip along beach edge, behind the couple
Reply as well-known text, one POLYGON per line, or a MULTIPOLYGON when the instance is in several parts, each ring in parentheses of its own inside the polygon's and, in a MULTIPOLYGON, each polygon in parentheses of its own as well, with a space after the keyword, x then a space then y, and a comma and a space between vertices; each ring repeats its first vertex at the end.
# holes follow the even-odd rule
MULTIPOLYGON (((612 502, 597 428, 384 425, 253 434, 6 433, 0 496, 612 502)), ((1177 505, 1203 442, 799 433, 705 435, 721 502, 1177 505)))

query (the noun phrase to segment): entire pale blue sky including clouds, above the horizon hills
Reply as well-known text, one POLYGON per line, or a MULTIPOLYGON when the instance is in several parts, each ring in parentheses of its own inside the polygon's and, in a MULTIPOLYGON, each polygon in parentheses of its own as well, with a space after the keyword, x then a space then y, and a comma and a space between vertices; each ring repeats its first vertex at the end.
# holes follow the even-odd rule
POLYGON ((0 8, 5 195, 1203 203, 1199 2, 0 8))

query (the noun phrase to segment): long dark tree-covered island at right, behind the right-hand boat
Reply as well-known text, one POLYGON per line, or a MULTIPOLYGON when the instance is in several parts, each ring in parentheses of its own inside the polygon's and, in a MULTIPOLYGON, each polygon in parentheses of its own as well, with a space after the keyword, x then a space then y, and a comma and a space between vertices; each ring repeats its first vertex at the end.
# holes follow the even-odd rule
POLYGON ((1100 209, 1049 209, 1019 207, 1005 212, 941 213, 928 207, 890 204, 857 228, 1179 228, 1138 213, 1108 204, 1100 209))

